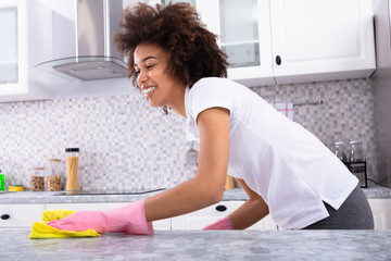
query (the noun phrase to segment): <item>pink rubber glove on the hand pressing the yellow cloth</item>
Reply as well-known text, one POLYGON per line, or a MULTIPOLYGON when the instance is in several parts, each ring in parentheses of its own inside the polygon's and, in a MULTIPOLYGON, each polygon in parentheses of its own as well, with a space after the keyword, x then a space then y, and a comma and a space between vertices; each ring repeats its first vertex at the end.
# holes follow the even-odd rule
POLYGON ((46 224, 59 231, 153 234, 152 222, 147 222, 146 219, 144 199, 110 211, 78 211, 46 224))

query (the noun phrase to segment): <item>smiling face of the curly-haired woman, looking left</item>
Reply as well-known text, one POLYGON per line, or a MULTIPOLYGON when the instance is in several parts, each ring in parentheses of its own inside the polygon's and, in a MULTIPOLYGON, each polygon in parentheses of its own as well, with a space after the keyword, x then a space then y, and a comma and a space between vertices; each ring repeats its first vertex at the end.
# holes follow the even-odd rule
POLYGON ((157 45, 141 44, 135 50, 134 60, 137 85, 150 105, 178 109, 184 102, 186 86, 167 73, 168 54, 157 45))

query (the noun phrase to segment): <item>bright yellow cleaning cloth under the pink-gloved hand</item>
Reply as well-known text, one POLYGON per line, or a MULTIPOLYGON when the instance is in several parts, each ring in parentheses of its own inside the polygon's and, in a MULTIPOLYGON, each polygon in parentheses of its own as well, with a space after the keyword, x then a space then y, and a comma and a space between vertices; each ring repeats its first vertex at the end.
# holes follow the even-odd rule
POLYGON ((84 232, 59 231, 52 226, 46 225, 47 222, 63 219, 75 213, 74 210, 47 210, 42 213, 41 222, 34 222, 29 238, 55 238, 55 237, 98 237, 101 234, 93 229, 84 232))

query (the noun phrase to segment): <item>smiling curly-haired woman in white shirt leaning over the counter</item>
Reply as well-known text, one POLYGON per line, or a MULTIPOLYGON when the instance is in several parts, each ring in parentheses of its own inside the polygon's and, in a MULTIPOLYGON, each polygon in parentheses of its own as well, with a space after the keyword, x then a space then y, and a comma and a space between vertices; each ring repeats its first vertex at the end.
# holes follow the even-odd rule
POLYGON ((48 223, 59 229, 153 233, 152 221, 222 200, 227 173, 249 200, 205 229, 247 228, 270 213, 281 228, 374 228, 357 178, 314 135, 244 86, 226 79, 216 36, 186 3, 139 3, 124 12, 114 37, 129 78, 151 107, 187 119, 200 142, 193 178, 109 212, 77 212, 48 223))

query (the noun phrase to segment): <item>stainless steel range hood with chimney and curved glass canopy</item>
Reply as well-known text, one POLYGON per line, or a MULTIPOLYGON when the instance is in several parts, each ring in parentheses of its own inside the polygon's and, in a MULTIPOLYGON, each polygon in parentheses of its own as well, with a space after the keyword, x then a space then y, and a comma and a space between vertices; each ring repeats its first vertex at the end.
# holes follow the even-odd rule
POLYGON ((75 7, 75 57, 42 62, 36 67, 68 79, 91 80, 126 77, 126 63, 116 53, 112 39, 113 33, 118 29, 123 1, 73 1, 75 7))

